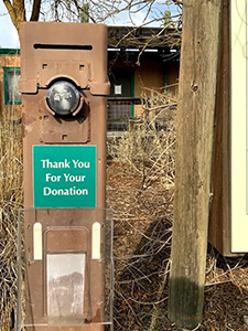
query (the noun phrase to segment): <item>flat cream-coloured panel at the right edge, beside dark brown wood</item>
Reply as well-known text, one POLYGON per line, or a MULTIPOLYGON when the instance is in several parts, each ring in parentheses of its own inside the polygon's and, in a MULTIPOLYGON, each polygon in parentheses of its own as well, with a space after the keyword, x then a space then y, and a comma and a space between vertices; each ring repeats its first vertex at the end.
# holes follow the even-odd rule
POLYGON ((247 0, 231 0, 231 252, 248 252, 247 0))

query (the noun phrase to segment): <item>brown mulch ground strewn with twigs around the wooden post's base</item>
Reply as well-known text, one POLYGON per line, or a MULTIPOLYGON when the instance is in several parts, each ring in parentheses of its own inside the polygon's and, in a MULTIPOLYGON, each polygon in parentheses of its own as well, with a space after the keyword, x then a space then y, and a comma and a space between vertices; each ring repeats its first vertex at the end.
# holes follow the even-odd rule
MULTIPOLYGON (((182 330, 166 318, 173 185, 111 162, 107 201, 115 222, 115 331, 182 330)), ((248 255, 208 245, 204 319, 195 330, 248 330, 248 255)))

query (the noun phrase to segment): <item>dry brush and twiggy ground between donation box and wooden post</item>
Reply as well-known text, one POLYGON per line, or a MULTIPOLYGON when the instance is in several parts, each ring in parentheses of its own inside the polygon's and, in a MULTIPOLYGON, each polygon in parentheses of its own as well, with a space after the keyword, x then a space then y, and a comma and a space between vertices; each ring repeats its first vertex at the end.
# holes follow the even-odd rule
POLYGON ((175 104, 154 97, 109 149, 115 214, 115 330, 163 330, 170 270, 175 104), (148 107, 149 106, 149 107, 148 107))

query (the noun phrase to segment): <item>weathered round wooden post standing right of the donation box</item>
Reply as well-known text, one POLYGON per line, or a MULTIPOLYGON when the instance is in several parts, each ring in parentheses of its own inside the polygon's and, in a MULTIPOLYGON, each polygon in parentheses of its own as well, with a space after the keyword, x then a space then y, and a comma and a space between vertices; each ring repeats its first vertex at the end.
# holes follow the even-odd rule
POLYGON ((223 0, 184 0, 169 318, 202 321, 223 0))

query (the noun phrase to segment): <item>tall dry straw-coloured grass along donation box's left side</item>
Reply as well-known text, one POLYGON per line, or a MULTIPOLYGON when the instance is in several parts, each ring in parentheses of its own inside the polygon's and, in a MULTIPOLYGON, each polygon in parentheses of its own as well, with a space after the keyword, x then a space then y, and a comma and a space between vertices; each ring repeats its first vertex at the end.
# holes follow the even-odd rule
POLYGON ((0 329, 13 328, 17 306, 17 220, 22 206, 22 130, 17 110, 0 117, 0 329))

